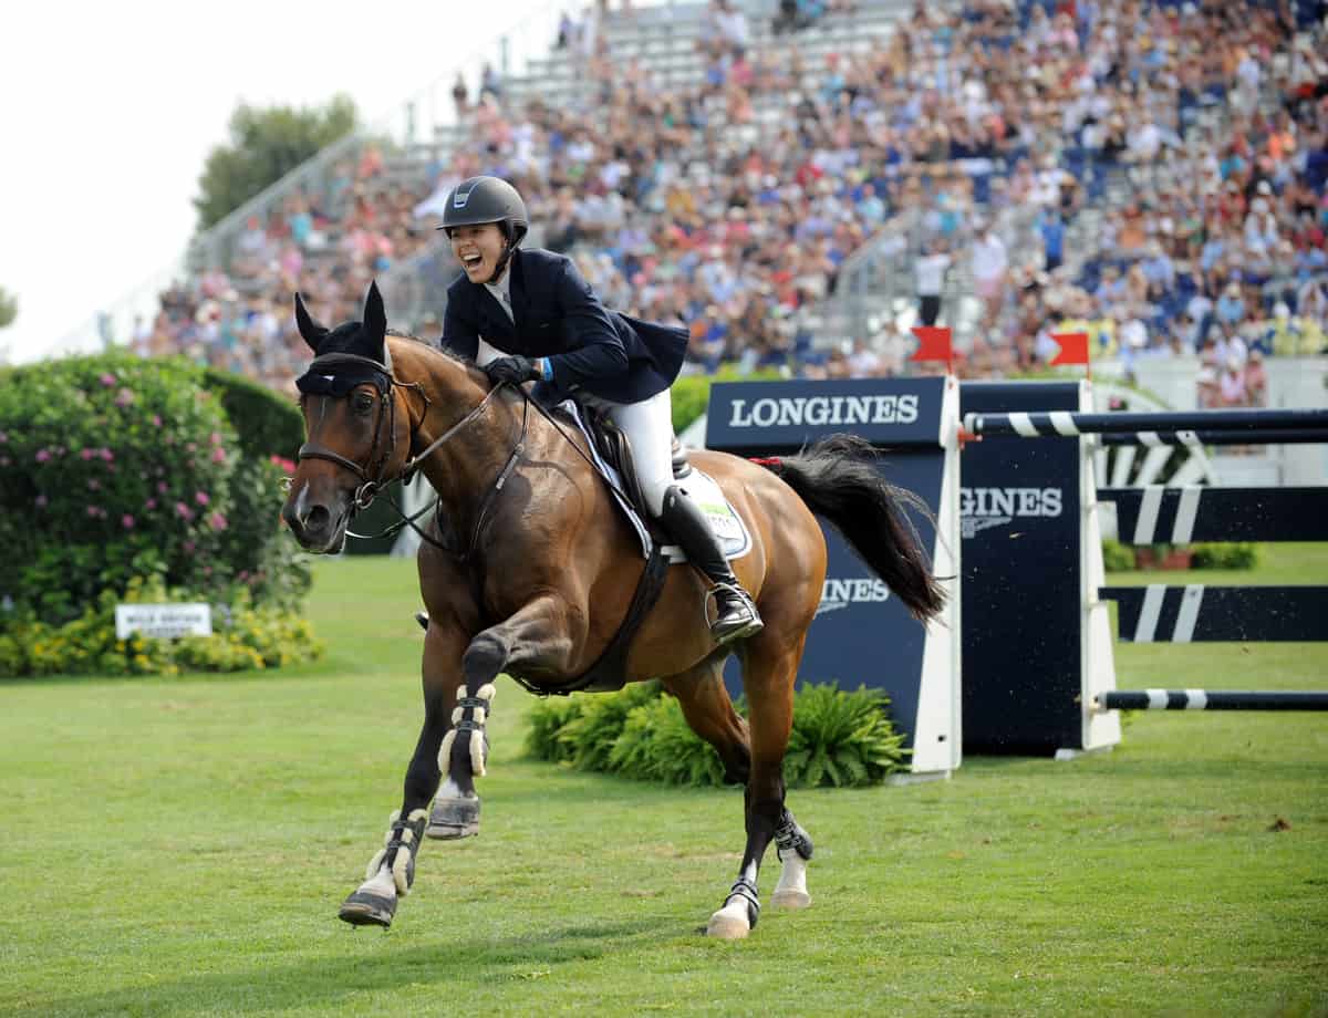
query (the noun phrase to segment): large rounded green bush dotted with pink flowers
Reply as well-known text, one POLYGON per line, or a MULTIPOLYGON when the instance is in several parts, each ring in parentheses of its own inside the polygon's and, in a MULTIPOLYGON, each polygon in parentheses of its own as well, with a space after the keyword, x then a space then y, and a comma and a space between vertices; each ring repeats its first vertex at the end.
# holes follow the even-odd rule
POLYGON ((15 369, 0 385, 0 593, 77 617, 133 576, 214 585, 235 431, 198 373, 122 354, 15 369))

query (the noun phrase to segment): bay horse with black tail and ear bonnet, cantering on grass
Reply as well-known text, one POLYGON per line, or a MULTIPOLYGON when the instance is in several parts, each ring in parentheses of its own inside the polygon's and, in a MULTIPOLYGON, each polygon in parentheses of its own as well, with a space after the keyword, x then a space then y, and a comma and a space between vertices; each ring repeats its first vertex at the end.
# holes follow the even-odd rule
MULTIPOLYGON (((400 811, 364 883, 340 917, 390 925, 410 889, 422 839, 475 834, 485 771, 485 719, 499 673, 537 693, 567 689, 608 648, 643 575, 641 543, 579 431, 531 413, 513 385, 490 386, 475 365, 421 340, 389 333, 377 285, 363 321, 328 329, 295 297, 300 334, 315 353, 301 377, 307 441, 283 518, 309 552, 336 552, 347 524, 384 484, 418 470, 438 510, 418 552, 428 608, 424 726, 406 768, 400 811), (430 811, 432 802, 432 811, 430 811)), ((757 873, 773 840, 782 861, 772 904, 810 903, 813 844, 785 807, 782 761, 793 689, 821 600, 826 544, 813 512, 835 526, 923 624, 946 595, 902 506, 861 439, 839 435, 758 465, 692 453, 752 535, 733 567, 760 605, 765 629, 716 646, 705 621, 706 587, 672 565, 631 638, 620 681, 659 678, 726 776, 745 786, 746 845, 737 881, 708 933, 745 937, 761 899, 757 873), (722 666, 742 665, 746 721, 733 709, 722 666)))

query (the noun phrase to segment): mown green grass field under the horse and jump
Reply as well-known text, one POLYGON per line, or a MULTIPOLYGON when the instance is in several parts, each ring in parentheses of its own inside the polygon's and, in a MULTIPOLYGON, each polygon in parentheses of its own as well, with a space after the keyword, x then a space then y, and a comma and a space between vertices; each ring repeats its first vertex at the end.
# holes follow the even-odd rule
MULTIPOLYGON (((1270 551, 1262 581, 1328 583, 1323 545, 1270 551)), ((393 929, 355 930, 336 908, 418 731, 416 605, 413 565, 328 561, 316 666, 0 684, 0 1011, 1328 1014, 1325 714, 1139 715, 1070 763, 797 791, 814 904, 730 944, 700 930, 741 794, 525 761, 502 680, 483 834, 426 844, 393 929)), ((1328 645, 1117 661, 1122 686, 1324 688, 1328 645)))

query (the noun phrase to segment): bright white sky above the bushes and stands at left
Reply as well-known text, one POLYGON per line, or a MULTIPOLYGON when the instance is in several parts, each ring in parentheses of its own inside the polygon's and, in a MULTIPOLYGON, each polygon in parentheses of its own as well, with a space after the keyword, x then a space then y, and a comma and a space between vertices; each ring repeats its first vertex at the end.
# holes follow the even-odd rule
MULTIPOLYGON (((19 319, 0 330, 0 361, 42 357, 179 256, 203 162, 227 142, 240 101, 316 106, 340 90, 372 121, 458 66, 473 90, 481 50, 495 52, 530 13, 556 21, 558 9, 555 0, 13 5, 0 33, 0 287, 17 295, 19 319)), ((543 36, 544 20, 530 21, 543 36)))

